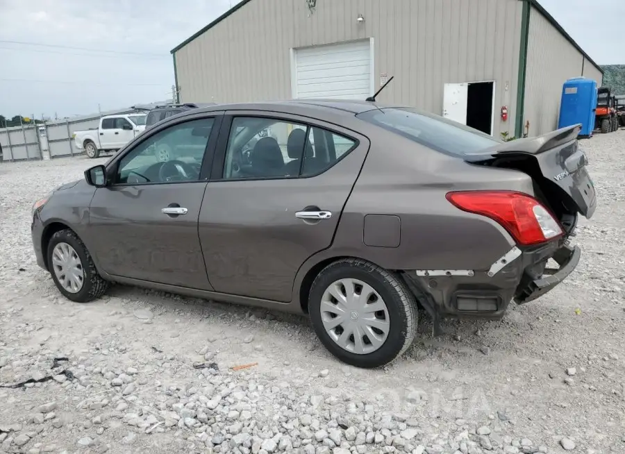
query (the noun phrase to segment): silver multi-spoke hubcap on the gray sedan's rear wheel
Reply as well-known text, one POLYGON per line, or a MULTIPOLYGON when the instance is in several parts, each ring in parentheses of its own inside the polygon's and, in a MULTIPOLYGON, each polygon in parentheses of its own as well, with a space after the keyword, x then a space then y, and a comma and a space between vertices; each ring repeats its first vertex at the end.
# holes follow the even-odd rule
POLYGON ((357 279, 341 279, 324 292, 322 322, 331 339, 358 355, 383 346, 390 330, 388 309, 371 285, 357 279))

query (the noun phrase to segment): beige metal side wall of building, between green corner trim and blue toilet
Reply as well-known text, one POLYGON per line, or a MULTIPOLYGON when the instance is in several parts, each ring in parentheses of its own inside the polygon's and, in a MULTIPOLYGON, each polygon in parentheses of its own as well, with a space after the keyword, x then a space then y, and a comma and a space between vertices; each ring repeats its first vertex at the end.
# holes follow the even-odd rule
MULTIPOLYGON (((531 137, 558 128, 562 84, 582 75, 584 56, 538 10, 529 22, 525 118, 531 137)), ((592 63, 587 62, 592 66, 592 63)))

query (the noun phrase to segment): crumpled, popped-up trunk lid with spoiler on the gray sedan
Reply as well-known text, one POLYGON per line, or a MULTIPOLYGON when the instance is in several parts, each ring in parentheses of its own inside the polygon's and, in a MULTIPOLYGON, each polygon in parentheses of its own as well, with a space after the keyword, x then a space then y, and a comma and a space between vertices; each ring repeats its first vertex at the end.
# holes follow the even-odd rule
POLYGON ((587 157, 577 140, 580 128, 567 126, 539 137, 504 142, 466 154, 465 160, 525 171, 551 204, 557 200, 572 214, 590 218, 597 207, 597 195, 587 171, 587 157))

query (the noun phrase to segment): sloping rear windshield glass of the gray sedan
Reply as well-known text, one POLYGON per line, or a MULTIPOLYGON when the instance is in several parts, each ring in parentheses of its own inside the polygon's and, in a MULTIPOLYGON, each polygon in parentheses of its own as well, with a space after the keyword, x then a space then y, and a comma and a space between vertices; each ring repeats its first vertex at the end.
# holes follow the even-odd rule
POLYGON ((414 108, 380 108, 356 116, 413 142, 453 156, 476 153, 501 143, 481 131, 414 108))

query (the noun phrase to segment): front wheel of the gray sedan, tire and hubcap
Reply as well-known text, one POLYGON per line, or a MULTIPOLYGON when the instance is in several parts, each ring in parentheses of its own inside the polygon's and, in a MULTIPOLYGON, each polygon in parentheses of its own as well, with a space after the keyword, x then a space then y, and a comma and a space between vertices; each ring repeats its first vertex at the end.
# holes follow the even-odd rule
POLYGON ((59 230, 48 244, 48 269, 59 291, 77 303, 97 299, 108 289, 85 244, 74 231, 59 230))

